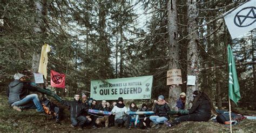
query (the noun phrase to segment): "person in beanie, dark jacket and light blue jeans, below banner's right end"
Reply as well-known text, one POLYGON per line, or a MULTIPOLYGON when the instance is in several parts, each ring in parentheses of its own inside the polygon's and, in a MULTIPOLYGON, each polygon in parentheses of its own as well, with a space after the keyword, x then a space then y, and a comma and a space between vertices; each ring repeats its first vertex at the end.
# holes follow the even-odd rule
POLYGON ((169 120, 169 115, 167 112, 170 110, 170 107, 164 100, 164 95, 159 95, 157 104, 153 109, 153 112, 156 114, 155 116, 150 116, 150 120, 153 122, 152 128, 156 127, 156 129, 161 127, 161 123, 169 120))

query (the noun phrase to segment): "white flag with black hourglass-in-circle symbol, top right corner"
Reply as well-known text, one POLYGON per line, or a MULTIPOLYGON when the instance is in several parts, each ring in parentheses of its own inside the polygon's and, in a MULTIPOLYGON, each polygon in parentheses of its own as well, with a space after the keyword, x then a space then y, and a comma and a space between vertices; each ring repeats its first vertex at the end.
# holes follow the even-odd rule
POLYGON ((252 0, 242 4, 228 14, 225 19, 232 39, 237 38, 256 28, 256 1, 252 0))

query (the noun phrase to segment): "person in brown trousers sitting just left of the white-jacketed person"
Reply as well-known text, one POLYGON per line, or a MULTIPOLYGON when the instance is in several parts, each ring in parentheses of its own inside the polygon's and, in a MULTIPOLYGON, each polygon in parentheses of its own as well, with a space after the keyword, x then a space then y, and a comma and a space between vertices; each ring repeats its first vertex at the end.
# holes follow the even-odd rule
MULTIPOLYGON (((106 100, 102 100, 102 104, 97 108, 98 110, 102 110, 105 112, 110 112, 111 108, 106 106, 106 100)), ((101 117, 97 117, 95 123, 99 126, 99 128, 102 127, 102 122, 105 123, 105 127, 103 128, 109 128, 109 116, 108 115, 100 115, 101 117)))

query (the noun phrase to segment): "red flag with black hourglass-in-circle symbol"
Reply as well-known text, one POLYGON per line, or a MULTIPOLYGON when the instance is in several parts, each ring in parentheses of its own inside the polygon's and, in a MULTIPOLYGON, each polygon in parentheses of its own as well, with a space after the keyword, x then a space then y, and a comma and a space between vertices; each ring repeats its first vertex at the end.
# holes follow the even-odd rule
POLYGON ((51 70, 51 86, 57 88, 65 88, 65 75, 51 70))

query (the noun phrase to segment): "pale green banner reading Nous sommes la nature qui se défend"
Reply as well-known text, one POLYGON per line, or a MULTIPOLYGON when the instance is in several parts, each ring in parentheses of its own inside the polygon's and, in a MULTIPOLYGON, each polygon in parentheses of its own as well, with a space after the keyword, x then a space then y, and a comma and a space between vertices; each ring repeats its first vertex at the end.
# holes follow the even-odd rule
POLYGON ((96 100, 150 99, 153 76, 91 80, 91 98, 96 100))

